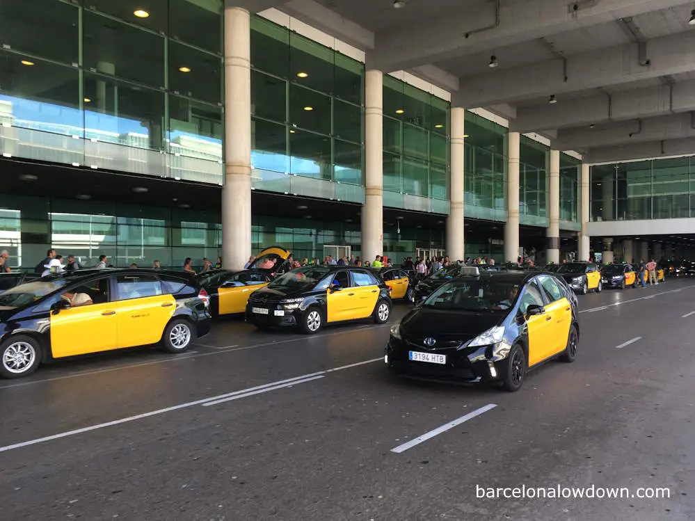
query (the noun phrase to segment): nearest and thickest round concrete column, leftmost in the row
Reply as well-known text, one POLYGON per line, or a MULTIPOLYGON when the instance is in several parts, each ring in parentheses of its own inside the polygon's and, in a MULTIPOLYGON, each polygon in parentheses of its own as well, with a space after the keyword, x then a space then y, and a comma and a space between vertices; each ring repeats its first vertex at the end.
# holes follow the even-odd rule
POLYGON ((250 16, 225 8, 225 186, 222 262, 241 269, 251 255, 250 16))

